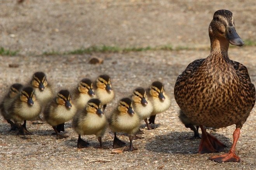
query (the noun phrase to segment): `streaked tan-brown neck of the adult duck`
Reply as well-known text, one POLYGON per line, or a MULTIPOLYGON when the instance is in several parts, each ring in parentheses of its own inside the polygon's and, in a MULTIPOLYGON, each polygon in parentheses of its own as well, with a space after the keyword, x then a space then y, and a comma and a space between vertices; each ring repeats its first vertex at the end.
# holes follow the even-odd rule
POLYGON ((229 42, 223 37, 211 38, 211 53, 209 57, 218 62, 230 63, 228 58, 229 42))

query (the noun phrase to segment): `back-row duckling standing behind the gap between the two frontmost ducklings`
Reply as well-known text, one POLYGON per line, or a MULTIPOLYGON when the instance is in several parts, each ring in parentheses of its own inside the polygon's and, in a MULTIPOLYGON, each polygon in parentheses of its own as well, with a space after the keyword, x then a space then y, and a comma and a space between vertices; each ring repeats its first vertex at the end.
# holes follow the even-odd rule
POLYGON ((100 75, 98 79, 96 80, 96 89, 95 94, 96 98, 98 98, 101 101, 101 104, 103 105, 103 112, 107 106, 107 103, 113 100, 115 97, 115 93, 113 89, 111 88, 111 81, 110 76, 104 74, 100 75))

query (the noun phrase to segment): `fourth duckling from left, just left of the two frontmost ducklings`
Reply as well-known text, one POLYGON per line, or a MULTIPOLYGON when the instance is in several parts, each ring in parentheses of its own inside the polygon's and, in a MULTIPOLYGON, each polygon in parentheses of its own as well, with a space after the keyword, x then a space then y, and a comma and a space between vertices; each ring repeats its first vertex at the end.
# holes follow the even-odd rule
POLYGON ((76 111, 76 107, 74 105, 72 106, 70 92, 68 90, 59 91, 57 96, 45 107, 44 119, 56 132, 56 139, 68 137, 59 134, 60 131, 57 130, 57 125, 64 125, 64 122, 71 120, 76 111))

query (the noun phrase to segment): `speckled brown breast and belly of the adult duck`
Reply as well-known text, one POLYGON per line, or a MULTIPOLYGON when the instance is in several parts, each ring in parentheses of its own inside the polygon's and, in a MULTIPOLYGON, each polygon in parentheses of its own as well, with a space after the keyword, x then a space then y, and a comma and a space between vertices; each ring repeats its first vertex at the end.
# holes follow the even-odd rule
POLYGON ((188 77, 180 92, 176 101, 193 122, 226 127, 247 117, 242 87, 232 68, 202 67, 188 77))

